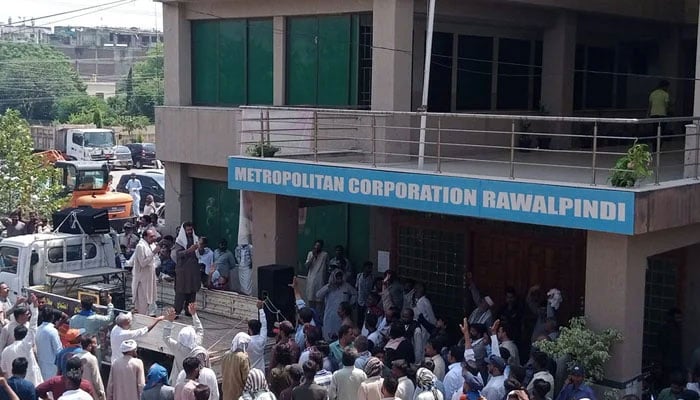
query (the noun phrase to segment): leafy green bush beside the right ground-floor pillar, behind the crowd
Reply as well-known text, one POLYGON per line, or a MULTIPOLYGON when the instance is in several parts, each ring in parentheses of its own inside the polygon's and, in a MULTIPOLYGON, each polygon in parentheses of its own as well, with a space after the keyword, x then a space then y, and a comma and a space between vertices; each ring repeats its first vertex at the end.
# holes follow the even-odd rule
POLYGON ((569 321, 568 327, 561 329, 559 339, 553 342, 540 340, 537 347, 555 359, 569 356, 569 367, 581 365, 589 380, 600 381, 605 374, 605 363, 610 359, 610 347, 620 341, 620 332, 614 329, 593 332, 586 326, 584 317, 576 317, 569 321))

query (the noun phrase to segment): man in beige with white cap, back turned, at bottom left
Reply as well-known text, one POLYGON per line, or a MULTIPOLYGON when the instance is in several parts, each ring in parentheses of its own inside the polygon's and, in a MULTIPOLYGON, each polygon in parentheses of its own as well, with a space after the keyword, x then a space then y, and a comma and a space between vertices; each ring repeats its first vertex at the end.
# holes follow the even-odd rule
MULTIPOLYGON (((136 358, 136 341, 124 340, 119 346, 122 357, 112 362, 107 383, 107 400, 135 400, 141 398, 146 385, 143 361, 136 358)), ((113 349, 113 351, 116 349, 113 349)))

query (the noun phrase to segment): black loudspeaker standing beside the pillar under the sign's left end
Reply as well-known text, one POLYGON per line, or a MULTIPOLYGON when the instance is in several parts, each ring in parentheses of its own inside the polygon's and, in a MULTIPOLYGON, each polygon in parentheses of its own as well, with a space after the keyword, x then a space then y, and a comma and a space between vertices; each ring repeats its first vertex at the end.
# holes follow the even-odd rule
POLYGON ((267 336, 275 336, 275 322, 282 321, 283 316, 292 324, 296 321, 294 304, 294 291, 289 285, 294 279, 294 267, 288 265, 265 265, 258 268, 258 297, 269 298, 269 301, 276 307, 282 315, 276 315, 273 307, 265 306, 265 317, 267 318, 267 336))

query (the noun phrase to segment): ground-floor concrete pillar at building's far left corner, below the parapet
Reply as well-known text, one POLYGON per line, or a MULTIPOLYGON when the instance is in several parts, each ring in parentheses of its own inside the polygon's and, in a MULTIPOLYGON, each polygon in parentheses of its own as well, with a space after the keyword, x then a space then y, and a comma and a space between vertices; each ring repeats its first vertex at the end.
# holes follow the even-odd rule
POLYGON ((175 229, 185 221, 192 221, 192 179, 187 172, 187 164, 164 162, 167 174, 165 185, 165 231, 175 233, 175 229))

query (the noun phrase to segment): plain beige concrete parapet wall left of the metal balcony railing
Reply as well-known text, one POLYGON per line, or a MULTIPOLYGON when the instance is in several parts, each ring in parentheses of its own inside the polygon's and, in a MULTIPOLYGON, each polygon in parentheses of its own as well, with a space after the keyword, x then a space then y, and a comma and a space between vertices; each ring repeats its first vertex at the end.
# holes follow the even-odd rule
POLYGON ((163 161, 226 167, 239 154, 240 110, 158 107, 156 141, 163 161))

